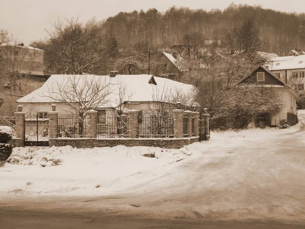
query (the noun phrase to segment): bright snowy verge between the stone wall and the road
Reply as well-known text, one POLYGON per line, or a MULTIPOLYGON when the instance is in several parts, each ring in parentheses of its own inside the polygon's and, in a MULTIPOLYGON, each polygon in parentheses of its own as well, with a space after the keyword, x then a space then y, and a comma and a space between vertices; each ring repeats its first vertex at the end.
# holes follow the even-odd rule
POLYGON ((124 192, 140 183, 156 180, 186 161, 208 162, 226 156, 234 147, 294 132, 250 129, 211 133, 211 140, 179 150, 154 147, 74 149, 67 147, 15 148, 10 163, 0 168, 0 193, 51 195, 106 195, 124 192), (154 154, 155 158, 144 157, 154 154), (99 185, 99 188, 96 186, 99 185))

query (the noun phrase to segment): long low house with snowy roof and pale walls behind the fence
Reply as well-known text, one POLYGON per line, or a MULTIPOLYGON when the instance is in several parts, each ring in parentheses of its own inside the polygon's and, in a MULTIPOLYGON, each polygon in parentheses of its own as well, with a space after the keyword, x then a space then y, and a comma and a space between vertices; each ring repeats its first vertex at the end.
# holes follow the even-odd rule
MULTIPOLYGON (((145 112, 154 109, 154 104, 168 103, 176 93, 188 94, 193 91, 193 86, 167 78, 154 77, 153 75, 51 75, 43 86, 36 91, 18 99, 16 102, 24 106, 23 111, 46 116, 47 112, 52 111, 51 104, 56 104, 60 115, 71 115, 73 112, 68 102, 63 102, 58 97, 59 88, 63 93, 70 93, 72 97, 77 97, 74 92, 69 91, 72 82, 77 82, 75 87, 87 82, 105 82, 105 88, 99 92, 109 94, 103 99, 96 109, 99 116, 111 116, 113 112, 128 111, 137 109, 145 112), (126 90, 123 92, 122 89, 126 90), (123 97, 124 93, 124 97, 123 97)), ((90 88, 79 88, 84 96, 83 101, 89 98, 90 88)), ((78 106, 78 104, 75 104, 78 106)))

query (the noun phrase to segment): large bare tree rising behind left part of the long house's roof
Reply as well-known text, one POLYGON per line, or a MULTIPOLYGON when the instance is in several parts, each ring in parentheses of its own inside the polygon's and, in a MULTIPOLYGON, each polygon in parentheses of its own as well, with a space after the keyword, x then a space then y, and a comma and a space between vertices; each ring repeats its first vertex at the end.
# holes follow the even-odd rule
POLYGON ((45 51, 47 69, 58 74, 99 74, 103 68, 104 39, 100 24, 89 21, 86 24, 78 18, 53 24, 54 30, 47 31, 46 41, 33 45, 45 51))

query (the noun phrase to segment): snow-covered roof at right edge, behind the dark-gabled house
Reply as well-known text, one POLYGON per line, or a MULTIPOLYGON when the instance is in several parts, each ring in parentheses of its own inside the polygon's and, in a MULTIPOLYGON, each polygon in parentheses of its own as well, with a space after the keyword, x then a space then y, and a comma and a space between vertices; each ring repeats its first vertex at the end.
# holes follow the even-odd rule
POLYGON ((265 67, 269 71, 305 68, 305 55, 288 55, 271 58, 265 67))

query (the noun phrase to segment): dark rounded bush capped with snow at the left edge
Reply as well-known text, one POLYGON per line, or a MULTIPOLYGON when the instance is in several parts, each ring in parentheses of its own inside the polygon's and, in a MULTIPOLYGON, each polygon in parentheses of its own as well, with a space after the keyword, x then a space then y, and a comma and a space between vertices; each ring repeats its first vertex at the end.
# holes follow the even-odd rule
POLYGON ((12 139, 11 128, 0 126, 0 165, 4 165, 5 161, 11 156, 13 147, 8 142, 12 139))

